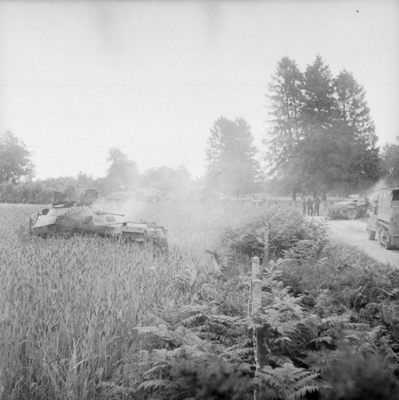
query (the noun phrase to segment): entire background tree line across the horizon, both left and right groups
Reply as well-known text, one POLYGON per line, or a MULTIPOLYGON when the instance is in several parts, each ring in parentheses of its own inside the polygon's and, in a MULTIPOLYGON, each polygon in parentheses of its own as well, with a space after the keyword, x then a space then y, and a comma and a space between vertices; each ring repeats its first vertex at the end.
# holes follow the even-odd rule
MULTIPOLYGON (((204 187, 209 191, 241 195, 272 187, 274 192, 291 193, 296 199, 298 192, 322 197, 332 189, 357 192, 380 177, 386 177, 388 184, 398 184, 399 136, 380 151, 366 91, 353 73, 343 69, 332 76, 320 55, 304 71, 294 59, 282 57, 265 95, 267 131, 262 151, 254 145, 250 125, 242 117, 219 117, 214 122, 204 160, 204 187)), ((81 174, 33 182, 29 151, 6 131, 0 139, 0 201, 36 202, 33 200, 47 198, 44 187, 73 192, 83 183, 104 192, 132 183, 170 192, 192 182, 183 166, 141 174, 136 163, 118 148, 110 149, 108 162, 108 175, 97 180, 81 174), (18 182, 25 182, 23 190, 32 193, 21 189, 16 196, 18 182)))

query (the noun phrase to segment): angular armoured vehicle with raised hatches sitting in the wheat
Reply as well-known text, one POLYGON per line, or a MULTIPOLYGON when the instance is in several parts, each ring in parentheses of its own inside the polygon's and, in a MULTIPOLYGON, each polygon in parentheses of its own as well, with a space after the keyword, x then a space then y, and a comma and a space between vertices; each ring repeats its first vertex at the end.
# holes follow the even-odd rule
POLYGON ((96 189, 87 189, 78 203, 67 201, 54 192, 52 206, 30 217, 30 233, 39 237, 96 234, 124 242, 152 243, 168 248, 167 229, 163 225, 146 221, 126 220, 124 214, 98 211, 93 207, 96 189))

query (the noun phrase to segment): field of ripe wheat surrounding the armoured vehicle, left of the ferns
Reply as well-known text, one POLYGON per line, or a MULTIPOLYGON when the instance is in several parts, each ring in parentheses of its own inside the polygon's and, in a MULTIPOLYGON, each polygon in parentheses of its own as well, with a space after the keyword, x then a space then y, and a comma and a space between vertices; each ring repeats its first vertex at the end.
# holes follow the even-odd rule
POLYGON ((262 212, 146 206, 142 218, 168 227, 170 252, 160 257, 101 237, 30 237, 28 218, 40 208, 0 206, 0 393, 7 399, 96 398, 123 354, 139 348, 134 328, 156 324, 162 308, 198 302, 214 268, 205 250, 220 245, 225 228, 262 212))

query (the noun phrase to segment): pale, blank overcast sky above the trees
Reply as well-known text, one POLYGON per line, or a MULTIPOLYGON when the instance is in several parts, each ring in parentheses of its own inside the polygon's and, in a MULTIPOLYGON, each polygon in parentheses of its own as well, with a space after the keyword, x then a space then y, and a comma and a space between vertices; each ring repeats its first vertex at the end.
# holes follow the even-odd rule
POLYGON ((261 151, 277 61, 316 54, 366 89, 379 144, 399 135, 399 1, 0 1, 0 134, 38 178, 104 176, 118 147, 139 170, 204 174, 209 129, 244 117, 261 151))

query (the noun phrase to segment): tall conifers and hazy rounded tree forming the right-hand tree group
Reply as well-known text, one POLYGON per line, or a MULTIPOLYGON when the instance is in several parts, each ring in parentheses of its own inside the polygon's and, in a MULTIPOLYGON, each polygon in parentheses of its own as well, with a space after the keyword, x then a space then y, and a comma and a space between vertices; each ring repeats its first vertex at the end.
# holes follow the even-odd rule
POLYGON ((282 57, 270 79, 267 132, 262 144, 264 170, 255 156, 244 119, 218 119, 207 148, 207 182, 223 191, 253 192, 265 182, 274 192, 342 194, 362 191, 379 178, 399 181, 399 138, 383 151, 366 102, 353 73, 332 76, 318 55, 304 71, 282 57), (226 182, 227 180, 227 182, 226 182))

